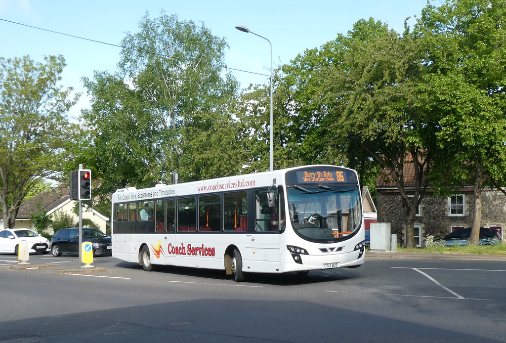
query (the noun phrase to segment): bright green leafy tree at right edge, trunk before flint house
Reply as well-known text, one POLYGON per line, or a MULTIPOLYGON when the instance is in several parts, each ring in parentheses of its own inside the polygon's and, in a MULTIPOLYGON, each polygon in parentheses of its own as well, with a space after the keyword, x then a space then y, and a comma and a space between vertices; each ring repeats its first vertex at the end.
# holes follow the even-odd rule
POLYGON ((435 186, 474 185, 471 244, 479 240, 483 187, 506 185, 505 27, 502 0, 449 0, 427 6, 415 30, 426 52, 425 102, 451 157, 435 186))

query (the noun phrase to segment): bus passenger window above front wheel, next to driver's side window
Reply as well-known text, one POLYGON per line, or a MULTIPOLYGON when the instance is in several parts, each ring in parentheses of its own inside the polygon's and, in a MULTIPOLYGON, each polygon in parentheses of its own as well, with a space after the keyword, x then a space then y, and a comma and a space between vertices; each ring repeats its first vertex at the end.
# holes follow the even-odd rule
POLYGON ((225 231, 247 231, 247 200, 246 192, 225 193, 223 195, 225 231))

